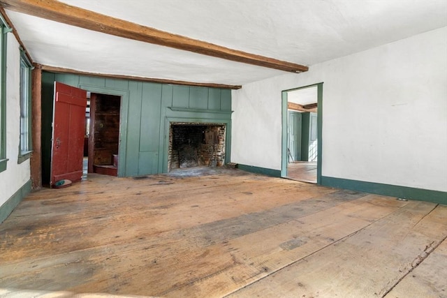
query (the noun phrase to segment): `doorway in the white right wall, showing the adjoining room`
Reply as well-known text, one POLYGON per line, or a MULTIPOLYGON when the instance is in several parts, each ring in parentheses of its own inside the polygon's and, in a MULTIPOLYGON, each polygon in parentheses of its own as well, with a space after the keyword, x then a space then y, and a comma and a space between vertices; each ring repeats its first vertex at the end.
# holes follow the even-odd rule
POLYGON ((322 87, 283 91, 281 177, 314 184, 321 179, 322 87))

